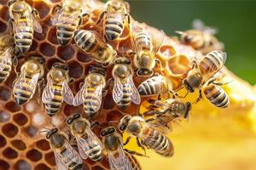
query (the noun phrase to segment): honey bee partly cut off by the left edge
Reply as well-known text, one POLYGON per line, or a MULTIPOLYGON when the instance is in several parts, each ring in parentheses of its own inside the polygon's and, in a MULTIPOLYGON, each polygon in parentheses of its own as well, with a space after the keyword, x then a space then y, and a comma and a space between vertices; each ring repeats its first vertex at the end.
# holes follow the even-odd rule
POLYGON ((0 37, 0 83, 4 82, 12 70, 12 55, 15 53, 14 37, 0 37))

